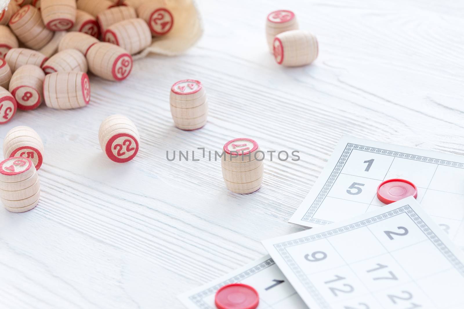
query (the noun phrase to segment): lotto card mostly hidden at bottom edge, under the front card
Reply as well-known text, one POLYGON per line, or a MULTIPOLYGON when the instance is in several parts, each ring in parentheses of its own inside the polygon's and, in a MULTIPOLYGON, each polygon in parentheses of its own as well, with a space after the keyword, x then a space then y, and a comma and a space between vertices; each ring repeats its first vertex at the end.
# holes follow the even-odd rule
POLYGON ((179 296, 188 309, 216 309, 216 292, 227 284, 247 284, 259 296, 258 309, 308 309, 269 255, 179 296))

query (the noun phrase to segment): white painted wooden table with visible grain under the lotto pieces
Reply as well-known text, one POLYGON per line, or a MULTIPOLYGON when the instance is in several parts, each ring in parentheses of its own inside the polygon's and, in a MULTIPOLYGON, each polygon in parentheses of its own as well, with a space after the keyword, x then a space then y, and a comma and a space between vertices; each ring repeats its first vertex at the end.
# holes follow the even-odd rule
MULTIPOLYGON (((204 0, 205 36, 181 57, 137 61, 120 83, 91 76, 89 107, 19 112, 44 140, 39 206, 0 209, 0 308, 183 308, 189 290, 266 252, 343 134, 464 153, 464 4, 453 0, 204 0), (317 35, 311 66, 279 67, 266 14, 294 10, 317 35), (174 127, 169 88, 201 80, 209 122, 174 127), (141 133, 127 164, 105 157, 98 126, 125 114, 141 133), (220 151, 232 138, 264 151, 261 189, 228 192, 220 162, 168 162, 166 151, 220 151)), ((199 153, 196 153, 198 155, 199 153)), ((191 153, 190 153, 191 155, 191 153)))

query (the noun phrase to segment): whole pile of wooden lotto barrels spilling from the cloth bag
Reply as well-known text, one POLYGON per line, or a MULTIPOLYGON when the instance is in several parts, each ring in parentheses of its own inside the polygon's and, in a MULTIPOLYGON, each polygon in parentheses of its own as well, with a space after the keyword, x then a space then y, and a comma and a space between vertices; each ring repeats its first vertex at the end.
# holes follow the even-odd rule
POLYGON ((0 124, 17 109, 90 102, 89 70, 126 79, 132 55, 174 25, 166 0, 11 0, 0 13, 0 124))

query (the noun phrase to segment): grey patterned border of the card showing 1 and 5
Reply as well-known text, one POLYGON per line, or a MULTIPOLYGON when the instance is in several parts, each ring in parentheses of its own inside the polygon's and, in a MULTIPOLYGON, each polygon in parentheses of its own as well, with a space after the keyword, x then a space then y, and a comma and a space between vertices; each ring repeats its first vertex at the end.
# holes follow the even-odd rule
POLYGON ((327 178, 327 180, 325 181, 325 184, 322 186, 322 189, 319 191, 319 194, 316 196, 315 200, 311 203, 311 206, 308 208, 306 213, 303 215, 303 218, 301 218, 302 221, 308 221, 308 222, 312 222, 312 223, 316 223, 320 225, 327 225, 329 223, 333 223, 332 221, 328 221, 328 220, 316 219, 314 218, 314 215, 316 214, 317 209, 319 209, 322 202, 325 200, 325 198, 329 194, 330 189, 332 189, 338 176, 342 174, 343 167, 345 166, 345 163, 348 161, 348 158, 351 155, 353 150, 379 153, 379 154, 387 155, 393 158, 404 158, 404 159, 409 159, 409 160, 414 160, 414 161, 421 161, 425 163, 452 166, 452 167, 457 167, 461 169, 464 168, 464 163, 460 163, 460 162, 417 156, 417 155, 406 153, 406 152, 391 151, 391 150, 382 149, 382 148, 375 148, 375 147, 369 147, 365 145, 348 143, 345 146, 345 149, 343 150, 342 155, 338 159, 337 164, 335 164, 335 167, 332 170, 332 173, 330 174, 329 178, 327 178))

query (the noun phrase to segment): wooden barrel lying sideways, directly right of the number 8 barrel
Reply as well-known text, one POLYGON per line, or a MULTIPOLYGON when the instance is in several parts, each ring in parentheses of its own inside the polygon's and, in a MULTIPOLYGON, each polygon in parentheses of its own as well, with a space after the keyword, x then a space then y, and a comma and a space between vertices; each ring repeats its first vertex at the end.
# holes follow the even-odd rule
POLYGON ((57 72, 45 76, 44 101, 48 107, 71 109, 90 102, 89 76, 83 72, 57 72))

